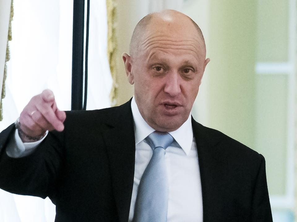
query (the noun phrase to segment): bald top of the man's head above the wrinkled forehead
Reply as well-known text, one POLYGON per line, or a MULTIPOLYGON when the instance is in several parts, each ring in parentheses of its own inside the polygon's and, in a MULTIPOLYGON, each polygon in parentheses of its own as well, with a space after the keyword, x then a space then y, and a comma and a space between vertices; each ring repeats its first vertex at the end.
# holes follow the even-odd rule
POLYGON ((163 10, 148 14, 137 23, 131 37, 130 55, 135 55, 139 50, 141 42, 144 41, 144 33, 156 31, 152 30, 156 28, 161 30, 162 25, 171 25, 172 29, 176 30, 178 27, 185 27, 185 23, 188 25, 187 27, 192 26, 196 30, 196 34, 200 38, 206 54, 205 41, 200 27, 190 17, 179 11, 163 10))

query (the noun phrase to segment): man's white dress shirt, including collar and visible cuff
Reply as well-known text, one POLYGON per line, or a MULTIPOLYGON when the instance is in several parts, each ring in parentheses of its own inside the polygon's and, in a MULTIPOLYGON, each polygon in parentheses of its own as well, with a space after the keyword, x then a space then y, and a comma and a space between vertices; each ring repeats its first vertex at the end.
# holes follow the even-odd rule
MULTIPOLYGON (((142 118, 134 97, 132 98, 131 109, 134 119, 136 153, 129 222, 133 220, 137 189, 141 176, 153 155, 152 148, 144 139, 155 131, 142 118)), ((171 146, 168 146, 165 154, 169 180, 167 222, 202 222, 200 171, 191 115, 178 130, 169 132, 169 134, 175 141, 171 146)), ((44 138, 37 142, 23 143, 16 130, 15 137, 7 145, 6 153, 13 158, 27 156, 37 148, 44 138)))

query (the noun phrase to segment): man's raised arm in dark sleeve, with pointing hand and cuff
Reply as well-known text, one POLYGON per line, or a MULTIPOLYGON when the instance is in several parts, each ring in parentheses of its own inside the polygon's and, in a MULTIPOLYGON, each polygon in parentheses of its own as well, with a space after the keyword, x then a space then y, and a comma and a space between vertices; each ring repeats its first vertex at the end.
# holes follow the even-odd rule
POLYGON ((30 100, 16 126, 12 124, 0 133, 0 188, 42 198, 51 195, 63 159, 63 133, 57 131, 64 130, 65 118, 65 112, 57 108, 50 90, 44 90, 30 100), (16 127, 19 132, 15 130, 16 127), (36 142, 46 131, 53 132, 43 138, 34 152, 22 147, 22 142, 36 142), (15 139, 18 139, 15 133, 21 140, 19 148, 13 146, 15 139))

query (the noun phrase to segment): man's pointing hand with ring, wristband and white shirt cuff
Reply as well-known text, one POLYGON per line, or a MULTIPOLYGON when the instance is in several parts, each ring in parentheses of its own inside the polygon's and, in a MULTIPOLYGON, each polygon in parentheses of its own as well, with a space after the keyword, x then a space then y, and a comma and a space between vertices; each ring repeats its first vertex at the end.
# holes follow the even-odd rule
POLYGON ((6 145, 6 154, 12 158, 31 154, 48 131, 64 129, 65 118, 66 114, 58 109, 51 90, 32 97, 15 122, 15 134, 6 145))

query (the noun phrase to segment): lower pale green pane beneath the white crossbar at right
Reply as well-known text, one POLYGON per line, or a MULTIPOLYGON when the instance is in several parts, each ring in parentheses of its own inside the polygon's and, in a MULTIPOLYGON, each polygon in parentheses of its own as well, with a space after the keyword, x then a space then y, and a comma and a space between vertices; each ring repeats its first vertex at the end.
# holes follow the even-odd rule
POLYGON ((267 183, 273 195, 286 193, 287 88, 286 74, 257 76, 255 148, 266 159, 267 183))

